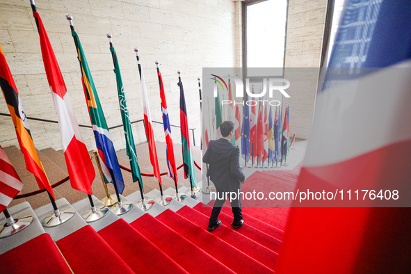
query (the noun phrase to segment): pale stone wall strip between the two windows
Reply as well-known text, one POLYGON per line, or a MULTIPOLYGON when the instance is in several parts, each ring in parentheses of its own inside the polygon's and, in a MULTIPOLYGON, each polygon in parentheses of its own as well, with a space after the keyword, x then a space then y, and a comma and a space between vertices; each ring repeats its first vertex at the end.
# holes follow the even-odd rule
MULTIPOLYGON (((319 67, 327 0, 289 0, 287 21, 286 67, 319 67)), ((291 70, 295 72, 295 70, 291 70)), ((312 125, 317 70, 305 70, 305 78, 293 79, 297 88, 288 90, 290 99, 284 98, 283 107, 289 104, 290 136, 307 139, 312 125)), ((287 79, 287 75, 285 75, 287 79)))

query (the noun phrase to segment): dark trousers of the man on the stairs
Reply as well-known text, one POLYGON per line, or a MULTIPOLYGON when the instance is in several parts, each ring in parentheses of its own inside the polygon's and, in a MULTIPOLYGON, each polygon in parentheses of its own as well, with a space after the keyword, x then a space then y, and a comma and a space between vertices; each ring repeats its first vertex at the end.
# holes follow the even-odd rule
MULTIPOLYGON (((230 201, 230 204, 232 207, 232 213, 234 215, 234 220, 233 220, 234 225, 240 223, 240 220, 243 220, 243 214, 241 213, 241 200, 239 199, 239 197, 236 197, 236 199, 230 200, 229 199, 230 193, 228 192, 228 195, 226 196, 227 191, 218 189, 218 187, 216 187, 216 193, 217 193, 217 199, 216 199, 216 202, 214 202, 213 210, 211 211, 209 227, 213 227, 214 225, 217 224, 218 215, 220 215, 221 207, 223 207, 225 200, 227 200, 226 197, 230 201), (223 199, 220 199, 220 198, 223 198, 223 199)), ((238 194, 239 193, 236 192, 236 196, 238 194)))

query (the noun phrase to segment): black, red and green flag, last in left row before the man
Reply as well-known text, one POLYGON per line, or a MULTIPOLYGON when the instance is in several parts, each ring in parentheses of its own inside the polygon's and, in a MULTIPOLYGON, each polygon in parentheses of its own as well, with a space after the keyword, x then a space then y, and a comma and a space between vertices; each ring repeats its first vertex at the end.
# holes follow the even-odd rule
MULTIPOLYGON (((180 87, 180 128, 182 132, 182 150, 183 150, 183 165, 184 165, 184 177, 190 178, 190 182, 193 187, 197 187, 197 179, 195 177, 195 166, 193 153, 190 147, 190 136, 188 134, 188 120, 187 120, 187 108, 186 98, 184 97, 183 82, 179 81, 177 85, 180 87)), ((221 120, 221 111, 220 111, 221 120)), ((219 126, 220 124, 218 124, 219 126)))

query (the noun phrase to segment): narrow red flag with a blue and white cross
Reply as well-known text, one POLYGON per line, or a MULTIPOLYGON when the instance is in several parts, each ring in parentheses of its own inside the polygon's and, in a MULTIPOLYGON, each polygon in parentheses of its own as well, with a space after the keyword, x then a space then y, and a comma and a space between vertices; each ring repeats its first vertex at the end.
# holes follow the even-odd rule
MULTIPOLYGON (((166 136, 166 160, 168 168, 168 177, 172 178, 174 182, 178 181, 177 166, 175 165, 174 147, 172 146, 172 135, 170 127, 170 119, 168 118, 166 94, 164 92, 163 78, 160 70, 157 69, 157 75, 159 76, 160 85, 160 98, 161 98, 161 111, 163 113, 163 127, 164 135, 166 136)), ((207 134, 207 131, 206 131, 207 134)))

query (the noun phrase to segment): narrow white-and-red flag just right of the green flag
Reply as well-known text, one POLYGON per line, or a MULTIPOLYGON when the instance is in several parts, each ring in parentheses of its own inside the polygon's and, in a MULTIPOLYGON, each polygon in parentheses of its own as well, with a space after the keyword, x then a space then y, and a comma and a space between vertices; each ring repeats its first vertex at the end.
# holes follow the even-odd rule
POLYGON ((141 90, 143 92, 144 125, 145 136, 147 136, 148 141, 148 152, 150 154, 150 162, 153 166, 154 177, 159 180, 159 184, 161 186, 161 175, 159 170, 159 160, 157 159, 156 140, 154 139, 152 115, 150 113, 150 104, 148 102, 147 87, 145 86, 143 67, 141 66, 139 58, 137 60, 137 65, 138 71, 140 72, 141 90))

